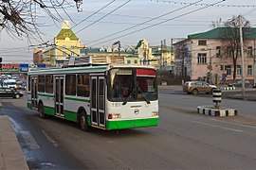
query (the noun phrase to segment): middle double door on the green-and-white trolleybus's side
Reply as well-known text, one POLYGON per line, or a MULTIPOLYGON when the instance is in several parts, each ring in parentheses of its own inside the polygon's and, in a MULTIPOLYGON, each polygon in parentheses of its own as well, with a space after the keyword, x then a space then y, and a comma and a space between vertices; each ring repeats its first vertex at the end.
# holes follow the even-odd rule
POLYGON ((64 76, 55 76, 54 83, 56 116, 64 117, 64 76))

